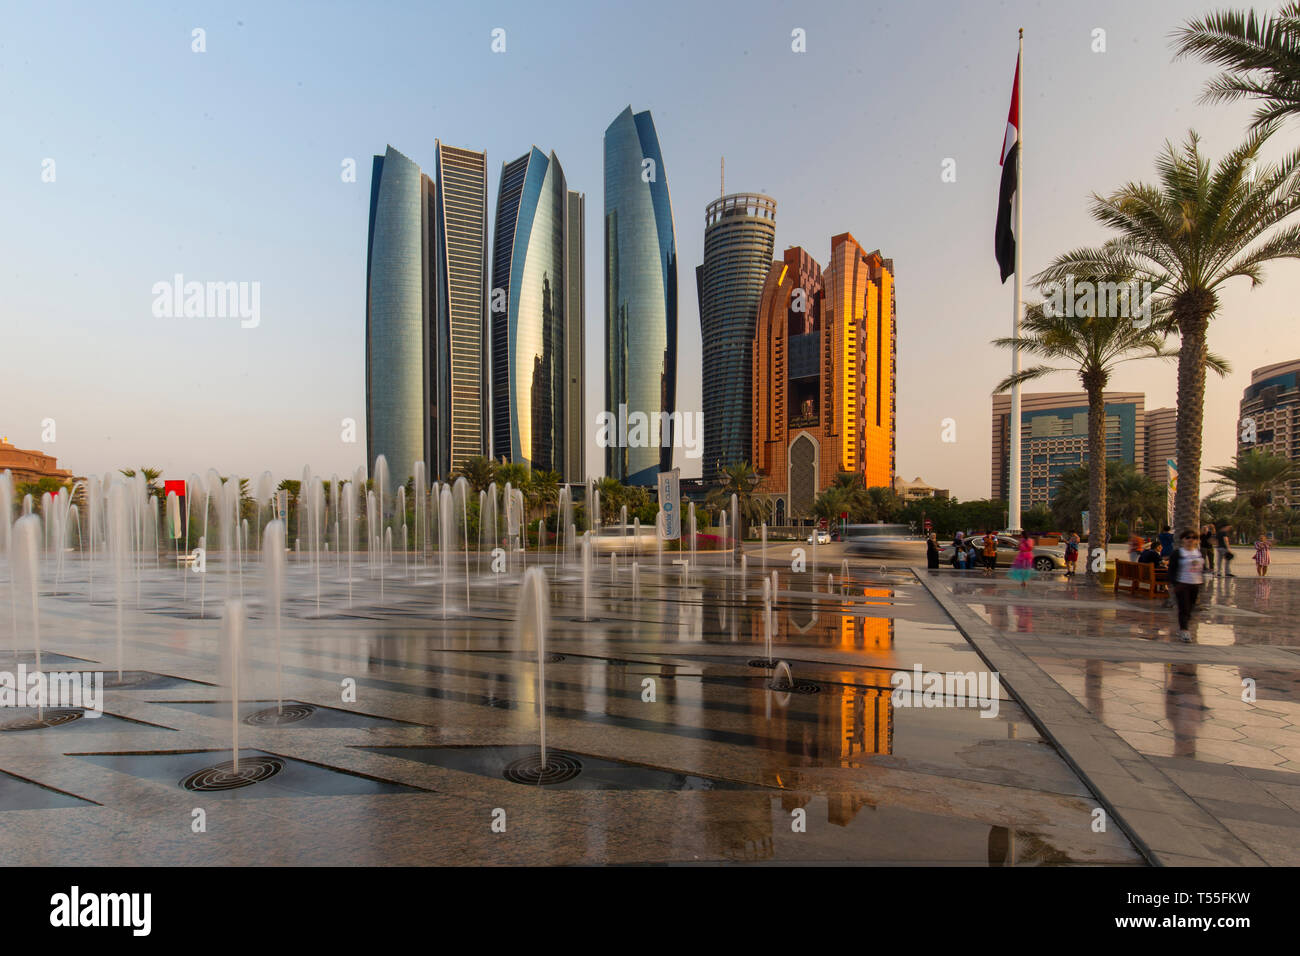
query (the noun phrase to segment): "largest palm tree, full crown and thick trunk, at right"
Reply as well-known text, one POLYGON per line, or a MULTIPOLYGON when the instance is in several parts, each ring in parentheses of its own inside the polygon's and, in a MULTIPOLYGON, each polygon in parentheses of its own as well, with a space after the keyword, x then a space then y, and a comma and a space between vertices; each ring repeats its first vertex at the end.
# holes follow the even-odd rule
MULTIPOLYGON (((1218 164, 1200 151, 1200 138, 1166 143, 1156 160, 1157 185, 1127 183, 1092 196, 1092 216, 1118 235, 1100 248, 1060 256, 1036 278, 1128 276, 1149 282, 1164 325, 1179 334, 1178 483, 1174 518, 1191 528, 1200 514, 1201 425, 1205 369, 1212 367, 1206 330, 1218 312, 1218 290, 1230 278, 1264 281, 1262 267, 1300 258, 1300 226, 1274 229, 1300 208, 1300 152, 1279 164, 1257 164, 1271 127, 1257 130, 1218 164)), ((1096 447, 1096 446, 1095 446, 1096 447)))

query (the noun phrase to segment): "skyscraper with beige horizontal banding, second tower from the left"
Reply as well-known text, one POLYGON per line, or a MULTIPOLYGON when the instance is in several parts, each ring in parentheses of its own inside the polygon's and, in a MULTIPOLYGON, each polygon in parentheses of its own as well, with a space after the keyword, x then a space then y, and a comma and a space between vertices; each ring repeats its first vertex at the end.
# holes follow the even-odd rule
POLYGON ((489 449, 488 155, 434 140, 436 349, 432 473, 448 477, 489 449))

